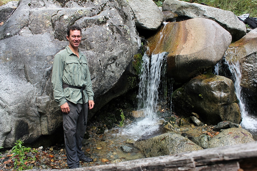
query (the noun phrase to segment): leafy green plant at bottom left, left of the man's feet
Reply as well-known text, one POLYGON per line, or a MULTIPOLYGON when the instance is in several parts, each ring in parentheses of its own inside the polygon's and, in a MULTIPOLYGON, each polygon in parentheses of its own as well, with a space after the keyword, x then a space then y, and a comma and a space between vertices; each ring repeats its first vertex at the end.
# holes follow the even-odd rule
POLYGON ((13 160, 14 160, 14 169, 16 170, 27 170, 27 159, 25 156, 26 152, 29 152, 31 148, 23 146, 23 143, 20 139, 16 141, 15 146, 12 148, 13 160))

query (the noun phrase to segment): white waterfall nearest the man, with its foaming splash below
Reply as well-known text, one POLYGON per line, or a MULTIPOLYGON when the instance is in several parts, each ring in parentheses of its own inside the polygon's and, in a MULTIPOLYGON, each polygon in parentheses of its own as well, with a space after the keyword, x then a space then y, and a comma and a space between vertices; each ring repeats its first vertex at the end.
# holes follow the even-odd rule
POLYGON ((142 135, 151 135, 159 128, 156 113, 159 100, 158 90, 167 54, 167 52, 152 54, 151 58, 147 54, 143 55, 137 98, 139 100, 138 111, 142 111, 145 117, 123 129, 123 134, 128 135, 131 139, 137 140, 142 135))

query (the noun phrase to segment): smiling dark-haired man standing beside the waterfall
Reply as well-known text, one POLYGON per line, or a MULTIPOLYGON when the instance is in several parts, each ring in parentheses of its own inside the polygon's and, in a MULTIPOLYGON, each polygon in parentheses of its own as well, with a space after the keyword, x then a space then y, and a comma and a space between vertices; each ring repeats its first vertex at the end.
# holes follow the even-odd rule
POLYGON ((67 29, 69 45, 55 55, 52 85, 55 101, 63 113, 64 141, 69 168, 79 167, 79 161, 91 162, 82 151, 86 131, 87 108, 93 109, 94 93, 85 55, 78 46, 81 29, 72 25, 67 29))

